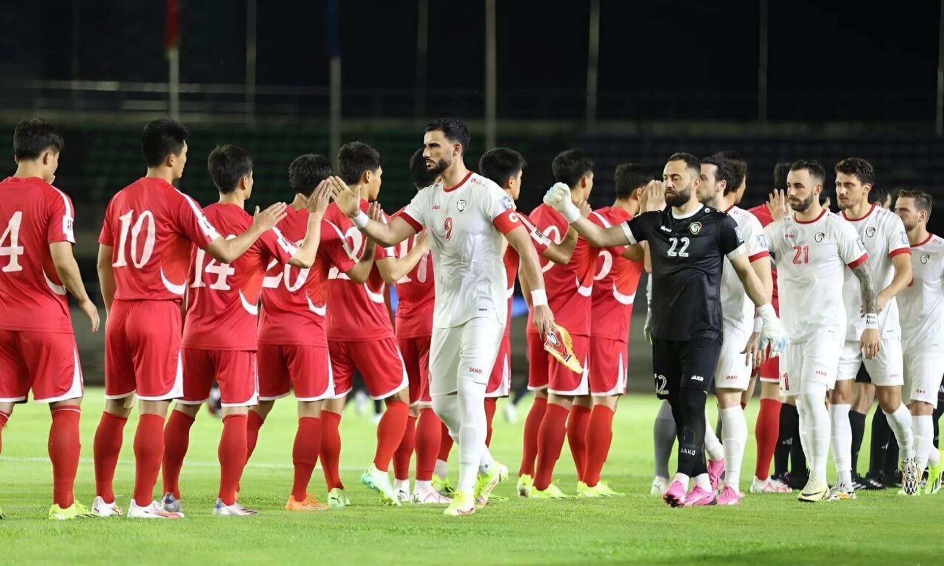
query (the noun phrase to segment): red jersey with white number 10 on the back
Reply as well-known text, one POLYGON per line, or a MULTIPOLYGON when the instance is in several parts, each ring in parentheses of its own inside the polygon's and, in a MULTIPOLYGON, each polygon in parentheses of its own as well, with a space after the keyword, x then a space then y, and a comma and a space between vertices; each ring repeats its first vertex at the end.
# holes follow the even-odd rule
POLYGON ((219 238, 194 199, 155 177, 118 191, 105 210, 98 241, 112 246, 115 299, 181 301, 193 244, 219 238))

